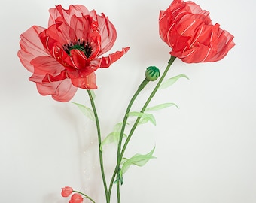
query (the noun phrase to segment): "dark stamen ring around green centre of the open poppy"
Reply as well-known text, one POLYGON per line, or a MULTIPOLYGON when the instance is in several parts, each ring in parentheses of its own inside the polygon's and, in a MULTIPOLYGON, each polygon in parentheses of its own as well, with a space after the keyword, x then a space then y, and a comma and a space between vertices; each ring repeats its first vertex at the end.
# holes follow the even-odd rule
POLYGON ((81 42, 80 39, 78 39, 75 44, 72 42, 69 44, 64 44, 63 49, 69 54, 69 56, 71 50, 81 50, 84 52, 84 55, 87 56, 87 58, 89 58, 92 54, 92 47, 90 47, 90 43, 85 41, 81 42))

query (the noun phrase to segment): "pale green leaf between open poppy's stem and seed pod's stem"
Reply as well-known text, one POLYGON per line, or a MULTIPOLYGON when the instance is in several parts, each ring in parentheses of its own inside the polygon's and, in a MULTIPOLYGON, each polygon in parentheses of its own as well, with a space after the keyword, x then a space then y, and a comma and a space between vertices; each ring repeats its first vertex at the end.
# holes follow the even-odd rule
MULTIPOLYGON (((128 124, 128 123, 126 123, 126 124, 128 124)), ((123 123, 117 123, 116 125, 114 125, 113 132, 109 133, 105 137, 105 139, 102 141, 102 144, 100 145, 100 150, 102 150, 102 147, 105 144, 111 144, 111 143, 118 144, 122 125, 123 125, 123 123)), ((127 135, 123 134, 123 138, 127 138, 127 135)))

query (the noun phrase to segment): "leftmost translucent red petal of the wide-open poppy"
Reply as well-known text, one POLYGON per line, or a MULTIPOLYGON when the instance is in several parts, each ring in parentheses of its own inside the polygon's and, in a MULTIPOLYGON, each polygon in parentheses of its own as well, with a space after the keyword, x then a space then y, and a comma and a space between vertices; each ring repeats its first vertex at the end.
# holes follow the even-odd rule
POLYGON ((30 63, 32 59, 35 59, 38 56, 49 55, 38 37, 39 33, 43 31, 43 27, 32 26, 20 35, 20 50, 18 51, 18 56, 20 58, 20 62, 22 62, 24 67, 30 72, 34 71, 34 67, 30 63))

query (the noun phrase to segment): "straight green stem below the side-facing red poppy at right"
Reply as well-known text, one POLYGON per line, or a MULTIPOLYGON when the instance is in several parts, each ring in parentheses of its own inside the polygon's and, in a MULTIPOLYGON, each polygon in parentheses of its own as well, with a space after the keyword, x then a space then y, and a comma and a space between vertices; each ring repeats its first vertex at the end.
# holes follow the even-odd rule
MULTIPOLYGON (((162 76, 160 77, 160 80, 158 81, 157 85, 154 87, 153 91, 151 92, 151 95, 149 95, 148 100, 145 102, 145 105, 143 106, 143 108, 142 108, 142 110, 141 110, 142 113, 143 113, 143 112, 145 111, 145 109, 148 107, 149 102, 151 102, 151 99, 152 99, 152 98, 154 97, 154 95, 156 94, 157 89, 159 88, 160 84, 163 82, 164 77, 166 77, 166 74, 167 74, 167 72, 169 71, 169 68, 171 67, 171 65, 172 65, 172 63, 174 62, 175 58, 176 58, 175 56, 171 56, 171 58, 169 59, 168 65, 167 65, 166 69, 164 70, 162 76)), ((130 141, 130 138, 131 138, 132 135, 133 135, 133 132, 135 131, 136 127, 138 126, 139 120, 140 120, 140 117, 138 117, 138 118, 136 119, 136 122, 133 124, 133 127, 132 127, 132 129, 130 130, 129 135, 128 135, 128 137, 126 138, 125 143, 123 144, 123 149, 122 149, 122 151, 121 151, 121 153, 120 153, 120 159, 123 158, 123 154, 124 154, 124 152, 125 152, 125 150, 126 150, 126 147, 127 147, 128 143, 129 143, 129 141, 130 141)), ((119 167, 119 166, 118 166, 118 167, 119 167)))

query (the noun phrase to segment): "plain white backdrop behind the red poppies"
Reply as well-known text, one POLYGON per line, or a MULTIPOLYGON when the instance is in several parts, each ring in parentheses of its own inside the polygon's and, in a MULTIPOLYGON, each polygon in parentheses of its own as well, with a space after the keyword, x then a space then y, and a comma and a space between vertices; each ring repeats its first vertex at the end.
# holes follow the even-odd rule
MULTIPOLYGON (((157 126, 139 126, 126 156, 148 153, 143 168, 131 167, 124 176, 122 202, 254 203, 256 202, 256 74, 254 0, 197 0, 235 38, 236 46, 220 62, 185 64, 175 60, 168 77, 187 74, 157 93, 152 105, 175 102, 179 109, 155 113, 157 126)), ((97 74, 96 105, 103 135, 123 118, 123 111, 149 65, 161 70, 169 47, 158 35, 162 1, 5 1, 0 12, 1 202, 64 203, 62 186, 87 192, 105 202, 99 175, 95 126, 71 102, 38 94, 30 73, 17 58, 19 36, 32 25, 47 26, 48 9, 83 4, 104 12, 117 29, 111 50, 130 51, 97 74)), ((167 77, 167 78, 168 78, 167 77)), ((151 86, 142 93, 143 102, 151 86)), ((79 90, 72 102, 89 105, 79 90)), ((139 109, 139 105, 135 108, 139 109)), ((111 174, 115 146, 105 147, 111 174)), ((113 191, 114 192, 114 191, 113 191)), ((113 195, 115 196, 115 195, 113 195)), ((115 202, 113 198, 113 202, 115 202)))

